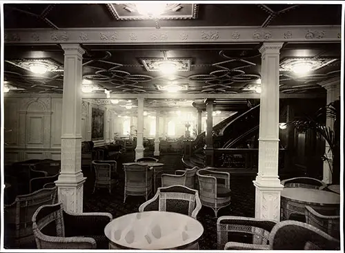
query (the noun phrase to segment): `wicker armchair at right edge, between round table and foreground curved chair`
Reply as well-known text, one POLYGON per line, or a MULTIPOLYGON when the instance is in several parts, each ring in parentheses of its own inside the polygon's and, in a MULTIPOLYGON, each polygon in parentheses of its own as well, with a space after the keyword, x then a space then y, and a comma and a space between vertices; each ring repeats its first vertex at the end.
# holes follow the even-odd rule
POLYGON ((306 206, 306 223, 321 229, 330 236, 340 239, 339 209, 328 210, 306 206))

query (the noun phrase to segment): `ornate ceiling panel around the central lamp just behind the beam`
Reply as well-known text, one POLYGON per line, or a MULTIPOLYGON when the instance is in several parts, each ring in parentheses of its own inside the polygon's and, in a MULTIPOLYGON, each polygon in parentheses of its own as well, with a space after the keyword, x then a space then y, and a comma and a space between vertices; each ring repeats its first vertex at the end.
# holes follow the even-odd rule
MULTIPOLYGON (((146 71, 160 71, 159 63, 165 62, 164 58, 146 58, 140 59, 141 63, 144 64, 146 71)), ((177 66, 177 71, 190 71, 190 64, 192 63, 191 58, 169 58, 168 62, 174 62, 177 66)))

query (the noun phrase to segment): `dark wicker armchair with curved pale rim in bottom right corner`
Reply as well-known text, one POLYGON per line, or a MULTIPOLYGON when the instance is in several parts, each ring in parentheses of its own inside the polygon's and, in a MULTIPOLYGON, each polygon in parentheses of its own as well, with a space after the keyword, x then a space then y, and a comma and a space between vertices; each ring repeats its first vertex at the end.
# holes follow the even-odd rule
POLYGON ((340 242, 322 230, 299 221, 282 221, 269 236, 270 250, 340 250, 340 242))

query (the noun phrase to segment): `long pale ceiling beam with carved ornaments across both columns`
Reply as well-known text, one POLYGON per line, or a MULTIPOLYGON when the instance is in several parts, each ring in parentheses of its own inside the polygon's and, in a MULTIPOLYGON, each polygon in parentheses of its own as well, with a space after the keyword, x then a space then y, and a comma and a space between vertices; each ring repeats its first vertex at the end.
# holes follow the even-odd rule
POLYGON ((340 42, 341 26, 6 29, 5 44, 340 42))

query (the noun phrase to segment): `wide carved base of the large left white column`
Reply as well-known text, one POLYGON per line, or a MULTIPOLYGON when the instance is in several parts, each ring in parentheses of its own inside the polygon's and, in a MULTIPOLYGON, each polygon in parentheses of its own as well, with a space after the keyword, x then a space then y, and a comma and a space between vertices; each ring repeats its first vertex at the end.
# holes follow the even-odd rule
POLYGON ((57 195, 63 208, 75 214, 83 212, 83 183, 86 178, 81 172, 77 174, 60 174, 55 181, 57 185, 57 195))

